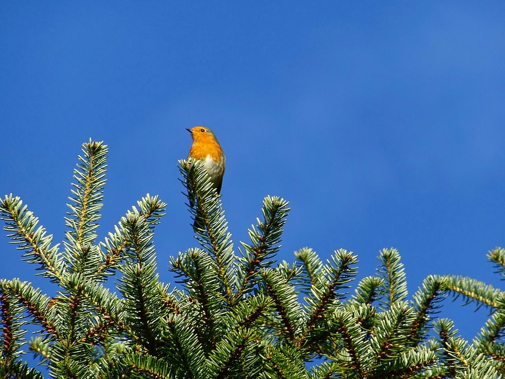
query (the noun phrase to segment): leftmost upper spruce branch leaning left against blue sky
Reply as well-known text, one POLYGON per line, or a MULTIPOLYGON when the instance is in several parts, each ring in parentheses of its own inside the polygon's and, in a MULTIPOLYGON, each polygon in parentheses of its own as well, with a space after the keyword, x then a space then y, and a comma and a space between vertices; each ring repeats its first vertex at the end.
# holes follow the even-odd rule
POLYGON ((45 235, 43 226, 38 226, 38 218, 28 211, 27 206, 19 197, 12 194, 0 202, 0 219, 6 221, 4 230, 10 232, 7 236, 17 244, 18 250, 25 250, 24 260, 28 263, 38 263, 42 276, 56 282, 62 280, 65 267, 58 252, 58 245, 51 247, 53 235, 45 235))

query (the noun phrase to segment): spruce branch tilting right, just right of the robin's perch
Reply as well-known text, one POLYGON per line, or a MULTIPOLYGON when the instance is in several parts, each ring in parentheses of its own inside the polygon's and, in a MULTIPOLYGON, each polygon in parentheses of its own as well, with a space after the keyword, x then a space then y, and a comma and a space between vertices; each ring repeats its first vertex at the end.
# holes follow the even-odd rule
POLYGON ((263 200, 263 221, 257 218, 257 225, 248 229, 251 245, 240 242, 244 248, 242 257, 238 257, 238 287, 233 301, 252 291, 258 283, 258 272, 269 267, 271 259, 280 249, 282 227, 286 223, 289 203, 279 197, 267 196, 263 200))

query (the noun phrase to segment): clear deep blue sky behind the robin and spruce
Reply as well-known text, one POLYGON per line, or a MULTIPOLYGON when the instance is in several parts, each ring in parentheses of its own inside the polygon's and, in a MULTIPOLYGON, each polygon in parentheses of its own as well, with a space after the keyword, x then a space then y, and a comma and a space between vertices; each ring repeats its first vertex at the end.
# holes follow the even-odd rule
MULTIPOLYGON (((196 246, 176 162, 206 125, 235 241, 278 195, 279 259, 345 248, 363 277, 396 247, 411 295, 428 274, 500 287, 485 255, 505 245, 504 19, 503 2, 4 2, 0 192, 62 240, 80 145, 104 140, 100 236, 159 194, 169 281, 169 256, 196 246)), ((50 292, 2 240, 0 277, 50 292)), ((487 313, 461 304, 442 314, 471 339, 487 313)))

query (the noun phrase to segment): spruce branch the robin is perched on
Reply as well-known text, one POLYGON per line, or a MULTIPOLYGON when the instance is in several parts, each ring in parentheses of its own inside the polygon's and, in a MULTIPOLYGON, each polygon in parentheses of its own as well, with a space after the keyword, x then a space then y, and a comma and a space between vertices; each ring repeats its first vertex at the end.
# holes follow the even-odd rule
POLYGON ((213 255, 226 298, 232 299, 235 254, 219 195, 200 161, 192 158, 179 160, 179 170, 187 189, 188 207, 193 220, 203 223, 203 227, 196 229, 195 238, 201 247, 213 255))

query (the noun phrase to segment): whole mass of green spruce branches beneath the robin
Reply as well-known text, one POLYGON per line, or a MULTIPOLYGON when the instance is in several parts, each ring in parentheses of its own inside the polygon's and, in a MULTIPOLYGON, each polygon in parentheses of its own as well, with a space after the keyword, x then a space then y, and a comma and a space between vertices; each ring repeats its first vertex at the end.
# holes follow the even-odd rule
MULTIPOLYGON (((358 258, 326 261, 310 248, 276 264, 288 203, 267 196, 262 217, 235 253, 220 197, 194 160, 179 161, 199 248, 171 259, 181 286, 159 280, 154 230, 166 204, 146 195, 97 242, 107 146, 83 144, 74 170, 66 240, 52 235, 21 199, 0 204, 23 259, 59 286, 49 297, 19 279, 0 281, 0 378, 40 378, 34 353, 56 378, 475 378, 505 373, 505 298, 480 281, 428 276, 408 299, 395 249, 351 294, 358 258), (198 216, 197 216, 198 215, 198 216), (117 293, 104 282, 117 275, 117 293), (437 309, 448 294, 489 308, 472 344, 437 309), (40 332, 25 340, 27 324, 40 332), (312 362, 312 363, 311 363, 312 362)), ((505 250, 489 253, 505 273, 505 250)))

